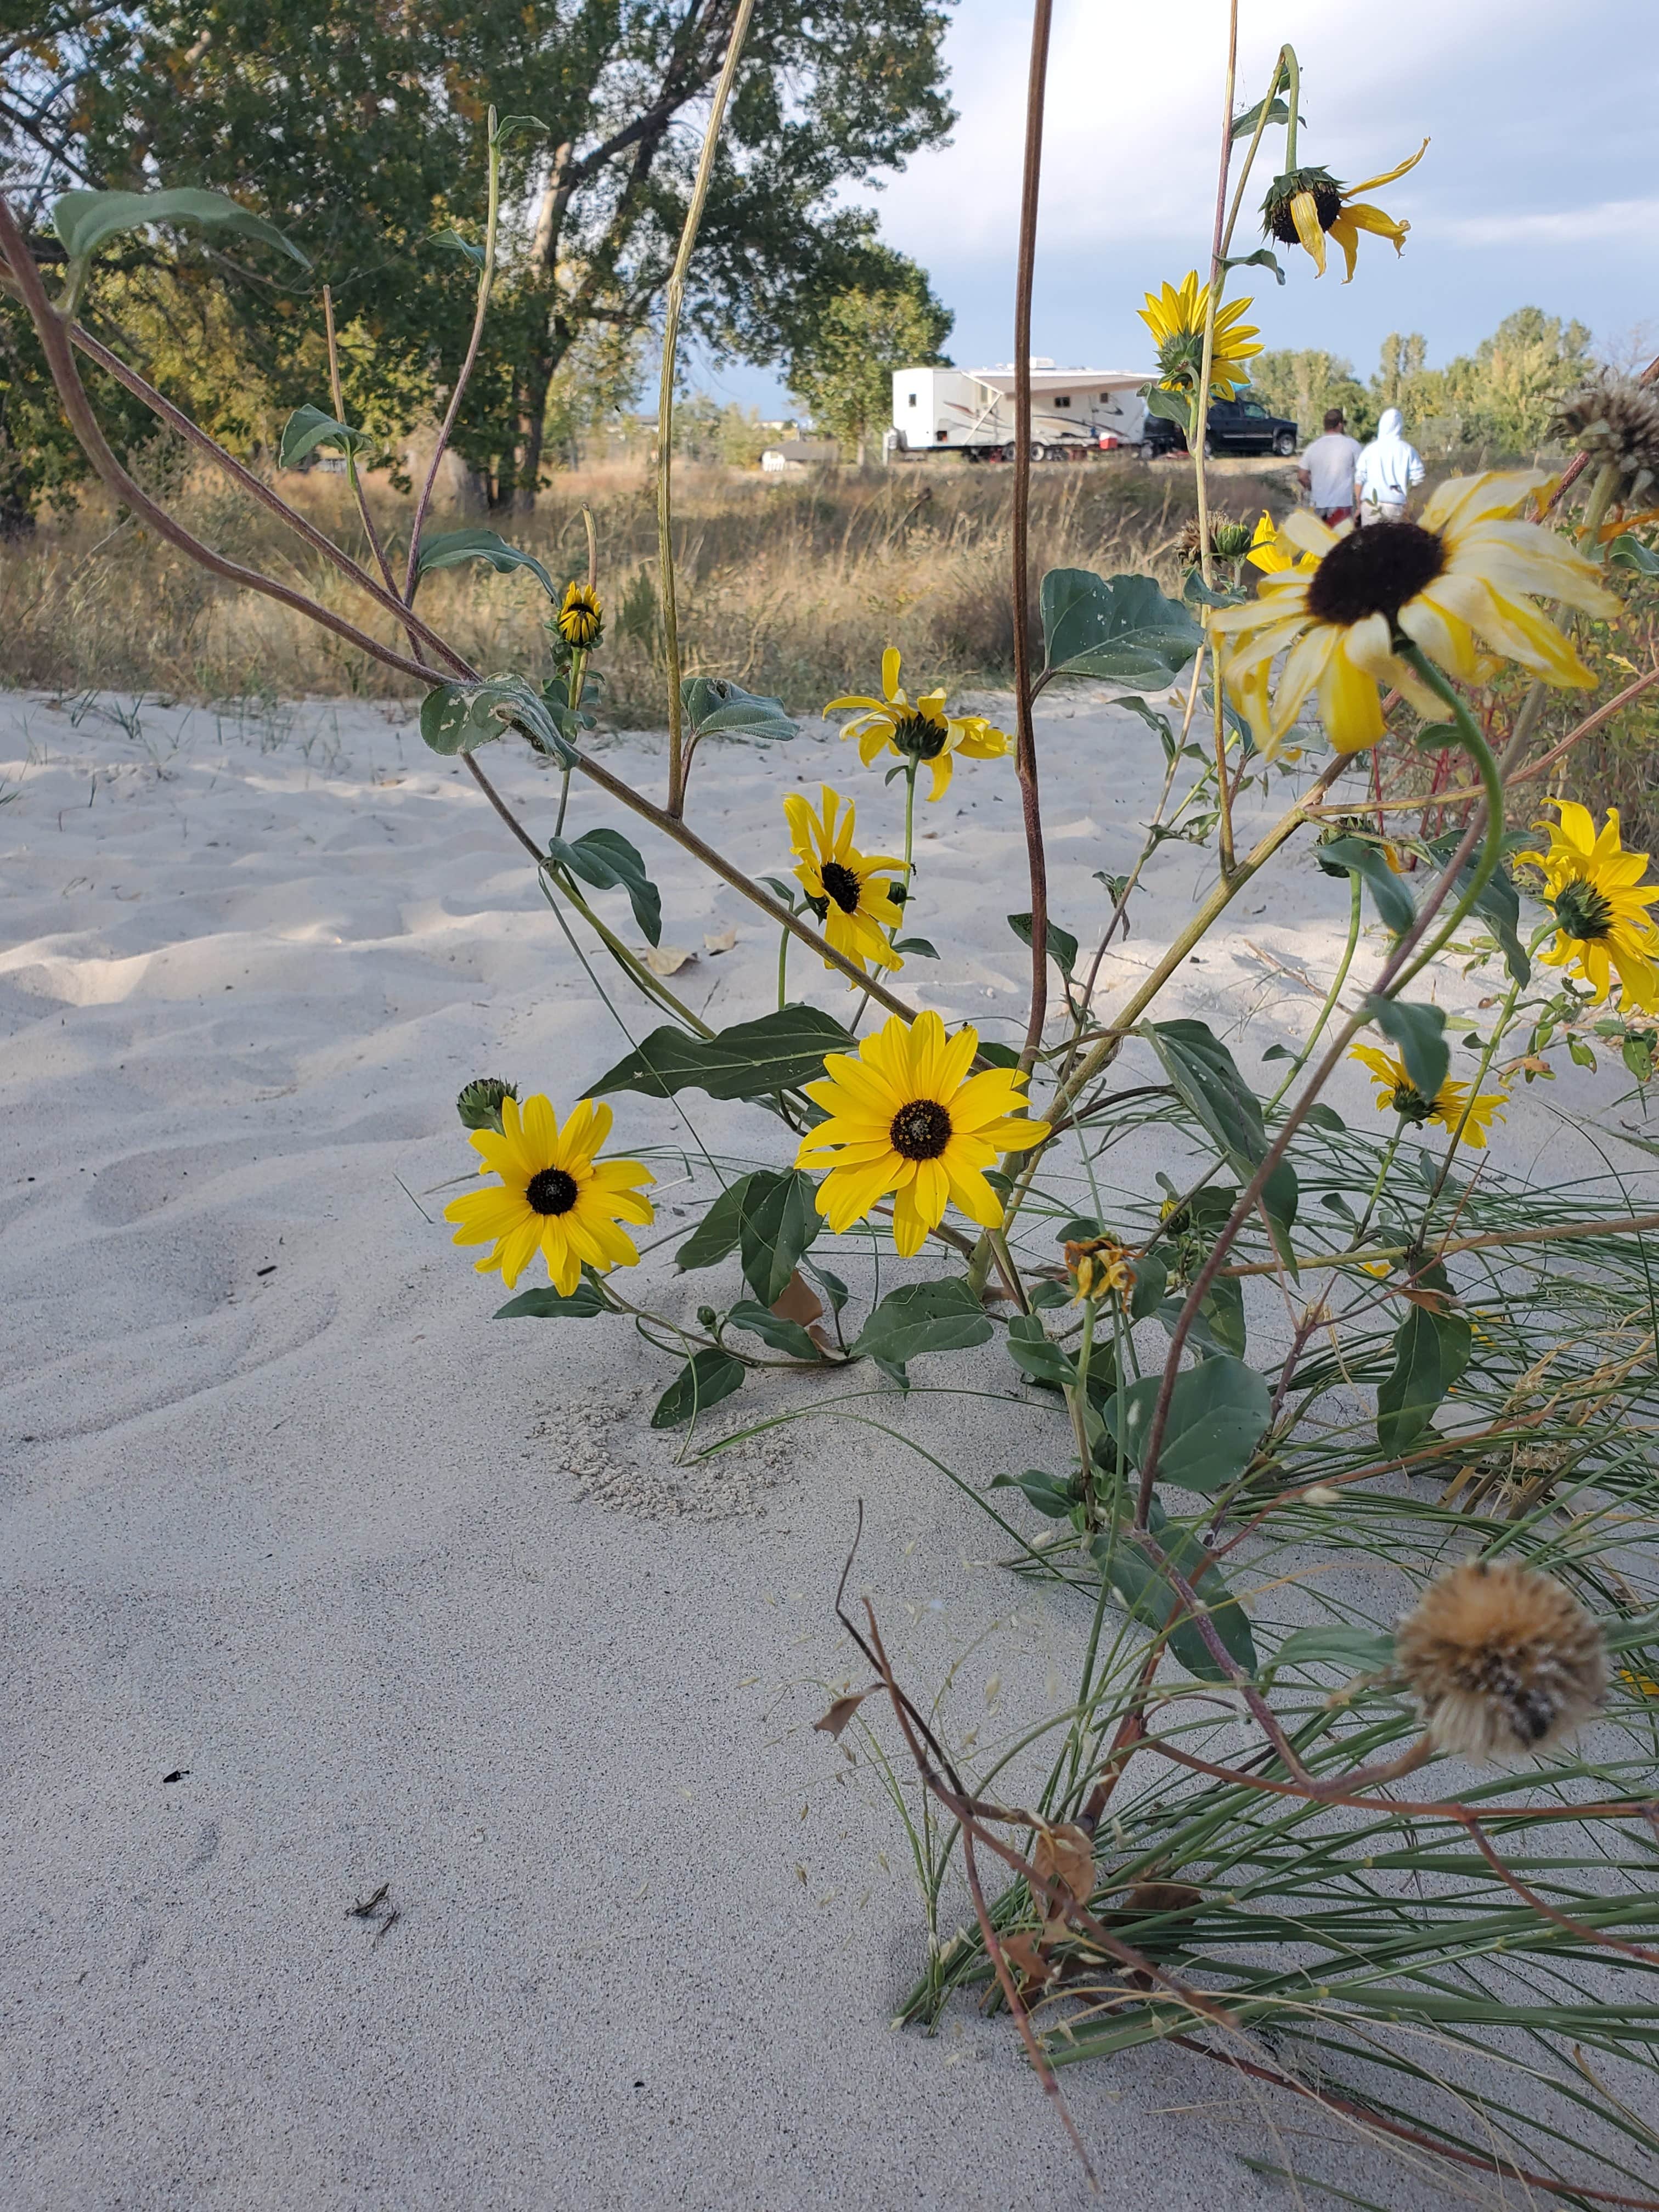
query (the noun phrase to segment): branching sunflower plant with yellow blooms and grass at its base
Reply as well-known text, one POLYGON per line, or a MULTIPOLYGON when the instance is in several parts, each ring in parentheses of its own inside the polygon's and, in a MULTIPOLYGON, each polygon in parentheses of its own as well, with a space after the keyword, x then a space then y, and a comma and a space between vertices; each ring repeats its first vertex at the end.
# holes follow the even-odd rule
MULTIPOLYGON (((728 80, 734 69, 737 44, 728 80)), ((1460 2183, 1475 2172, 1515 2201, 1650 2203, 1648 2084, 1632 2077, 1659 2048, 1659 1385, 1644 1243, 1659 1214, 1624 1172, 1548 1161, 1526 1177, 1502 1159, 1520 1086, 1555 1075, 1557 1048, 1586 1075, 1617 1057, 1637 1091, 1659 1051, 1650 858, 1626 847, 1617 810, 1597 818, 1588 787, 1571 794, 1579 741, 1624 712, 1621 695, 1599 699, 1613 664, 1586 639, 1597 626, 1624 637, 1621 575, 1641 568, 1652 520, 1639 504, 1655 480, 1650 392, 1579 394, 1564 411, 1579 447, 1559 473, 1453 476, 1402 520, 1354 531, 1292 511, 1252 529, 1212 513, 1206 411, 1248 389, 1261 338, 1252 299, 1230 296, 1237 272, 1285 276, 1274 246, 1318 272, 1334 239, 1356 276, 1360 230, 1396 248, 1407 234, 1356 192, 1418 157, 1349 190, 1303 159, 1301 100, 1285 46, 1230 131, 1208 272, 1141 310, 1157 345, 1148 405, 1183 422, 1194 471, 1183 595, 1150 575, 1033 577, 1022 484, 1011 604, 1040 619, 1015 626, 995 721, 951 710, 942 684, 911 697, 896 646, 880 688, 832 699, 825 712, 847 719, 816 739, 785 701, 681 668, 672 316, 661 790, 593 743, 606 650, 593 526, 586 566, 555 577, 493 531, 425 531, 429 480, 398 575, 352 471, 378 573, 321 540, 338 604, 241 577, 420 690, 422 739, 465 763, 535 872, 557 931, 549 958, 568 960, 630 1040, 611 1066, 478 1077, 456 1102, 469 1172, 445 1214, 478 1274, 511 1292, 495 1316, 635 1332, 641 1371, 657 1363, 646 1418, 684 1451, 719 1451, 750 1425, 874 1422, 918 1455, 907 1515, 918 1484, 949 1478, 995 1526, 995 1573, 1042 1586, 1044 1632, 1068 1648, 1075 1686, 1002 1736, 989 1688, 962 1721, 967 1659, 936 1692, 911 1688, 876 1597, 836 1601, 847 1641, 834 1663, 852 1650, 860 1674, 834 1681, 818 1725, 852 1730, 867 1756, 847 1772, 874 1772, 902 1807, 927 1922, 900 2015, 931 2026, 956 2000, 1006 2015, 1062 2112, 1064 2068, 1135 2066, 1179 2042, 1243 2068, 1274 2108, 1314 2101, 1367 2146, 1407 2146, 1429 2170, 1440 2159, 1460 2183), (1234 254, 1276 131, 1272 243, 1234 254), (546 593, 540 666, 473 668, 427 622, 420 577, 456 562, 546 593), (1097 911, 1068 916, 1086 936, 1051 911, 1031 712, 1075 679, 1117 686, 1128 714, 1113 741, 1161 761, 1135 865, 1102 872, 1097 911), (1582 714, 1542 743, 1562 699, 1582 714), (818 750, 816 803, 783 803, 776 876, 712 843, 706 792, 728 741, 818 750), (491 745, 555 770, 524 814, 484 765, 491 745), (1427 759, 1440 765, 1425 792, 1427 759), (1009 1037, 929 1004, 962 953, 900 933, 929 911, 922 770, 925 805, 958 770, 1020 799, 982 885, 1031 956, 1009 1037), (1270 776, 1287 803, 1239 854, 1234 801, 1270 776), (681 956, 661 945, 650 854, 670 847, 779 933, 776 978, 768 953, 721 1026, 712 1000, 681 993, 681 956), (1113 949, 1144 887, 1170 865, 1190 887, 1194 858, 1183 927, 1121 980, 1113 949), (1237 1033, 1181 1013, 1175 984, 1245 891, 1265 902, 1290 872, 1347 927, 1296 1042, 1256 1064, 1237 1033), (1453 1020, 1458 995, 1475 1004, 1453 1020), (1349 1121, 1334 1097, 1360 1073, 1378 1113, 1349 1121), (695 1152, 666 1135, 688 1099, 695 1152), (701 1102, 741 1135, 708 1135, 701 1102), (1155 1188, 1115 1181, 1130 1139, 1157 1159, 1155 1188), (748 1150, 717 1150, 728 1141, 748 1150), (670 1159, 672 1230, 653 1206, 670 1159), (854 1394, 885 1402, 854 1416, 854 1394), (975 1451, 1004 1460, 989 1484, 953 1464, 938 1416, 958 1394, 973 1398, 975 1451), (1599 2068, 1624 2086, 1604 2088, 1599 2068)), ((511 128, 491 117, 478 319, 451 418, 491 307, 511 128)), ((1033 190, 1035 155, 1033 137, 1033 190)), ((102 246, 146 206, 166 215, 144 195, 69 195, 55 279, 0 197, 0 259, 93 467, 142 526, 215 568, 104 445, 77 367, 91 354, 168 414, 77 321, 102 246)), ((190 206, 241 219, 250 252, 305 265, 232 201, 192 192, 190 206)), ((1035 204, 1026 212, 1029 303, 1035 204)), ((699 219, 692 195, 681 265, 699 219)), ((1022 356, 1029 338, 1022 323, 1022 356)), ((321 345, 332 354, 327 319, 321 345)), ((1029 420, 1018 429, 1024 473, 1029 420)), ((356 436, 316 405, 290 431, 347 453, 356 436)), ((319 546, 279 493, 195 442, 319 546)), ((867 670, 849 668, 856 681, 867 670)), ((1639 1128, 1621 1135, 1659 1150, 1639 1128)), ((1599 1119, 1604 1137, 1619 1141, 1599 1119)), ((883 1480, 872 1460, 872 1515, 889 1506, 883 1480)))

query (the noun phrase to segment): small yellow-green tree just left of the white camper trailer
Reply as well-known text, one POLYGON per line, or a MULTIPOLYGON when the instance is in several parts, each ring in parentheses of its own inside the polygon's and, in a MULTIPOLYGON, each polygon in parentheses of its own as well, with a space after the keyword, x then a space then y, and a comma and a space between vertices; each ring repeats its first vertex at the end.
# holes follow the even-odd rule
POLYGON ((790 392, 821 429, 858 447, 860 469, 872 431, 894 411, 894 369, 949 367, 940 345, 956 323, 916 261, 876 246, 869 259, 867 281, 803 316, 790 352, 790 392))

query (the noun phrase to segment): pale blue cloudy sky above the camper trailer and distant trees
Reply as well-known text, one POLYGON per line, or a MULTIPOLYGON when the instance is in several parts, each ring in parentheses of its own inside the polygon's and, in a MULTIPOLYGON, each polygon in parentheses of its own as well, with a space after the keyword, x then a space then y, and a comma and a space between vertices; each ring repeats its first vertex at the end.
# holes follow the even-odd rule
MULTIPOLYGON (((951 144, 847 195, 927 268, 956 312, 945 349, 962 367, 1013 354, 1029 35, 1026 4, 958 0, 951 144)), ((1261 97, 1283 40, 1303 69, 1301 161, 1358 184, 1431 144, 1371 195, 1411 223, 1398 261, 1365 237, 1352 285, 1340 254, 1316 281, 1305 254, 1281 252, 1283 290, 1270 270, 1234 272, 1265 345, 1323 345, 1369 376, 1391 330, 1420 330, 1438 365, 1535 305, 1588 323, 1619 356, 1644 338, 1644 358, 1659 352, 1659 0, 1241 0, 1237 108, 1261 97)), ((1223 64, 1225 0, 1055 0, 1035 354, 1148 365, 1144 292, 1208 254, 1223 64)), ((1259 243, 1254 210, 1281 150, 1272 131, 1241 252, 1259 243)), ((699 363, 695 376, 763 414, 792 411, 774 372, 699 363)))

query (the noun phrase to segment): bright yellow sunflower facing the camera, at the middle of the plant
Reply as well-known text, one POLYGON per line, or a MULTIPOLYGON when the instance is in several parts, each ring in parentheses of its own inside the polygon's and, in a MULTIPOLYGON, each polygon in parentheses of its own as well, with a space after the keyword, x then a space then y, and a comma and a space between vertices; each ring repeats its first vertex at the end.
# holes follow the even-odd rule
POLYGON ((894 1243, 902 1259, 960 1206, 980 1228, 1002 1225, 1002 1203, 984 1179, 998 1152, 1024 1152, 1048 1135, 1024 1106, 1020 1068, 969 1075, 980 1048, 975 1029, 945 1035, 936 1013, 914 1024, 894 1015, 858 1053, 830 1053, 823 1082, 807 1097, 827 1121, 801 1139, 796 1168, 830 1168, 818 1212, 836 1237, 894 1197, 894 1243))

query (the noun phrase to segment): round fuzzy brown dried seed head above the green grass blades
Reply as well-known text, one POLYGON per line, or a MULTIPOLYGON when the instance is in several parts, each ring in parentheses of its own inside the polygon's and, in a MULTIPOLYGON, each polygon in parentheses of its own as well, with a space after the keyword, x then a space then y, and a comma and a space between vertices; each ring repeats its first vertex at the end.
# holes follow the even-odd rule
POLYGON ((1601 1710, 1601 1628, 1573 1593, 1511 1559, 1431 1582, 1394 1635, 1394 1666, 1442 1752, 1544 1752, 1601 1710))

